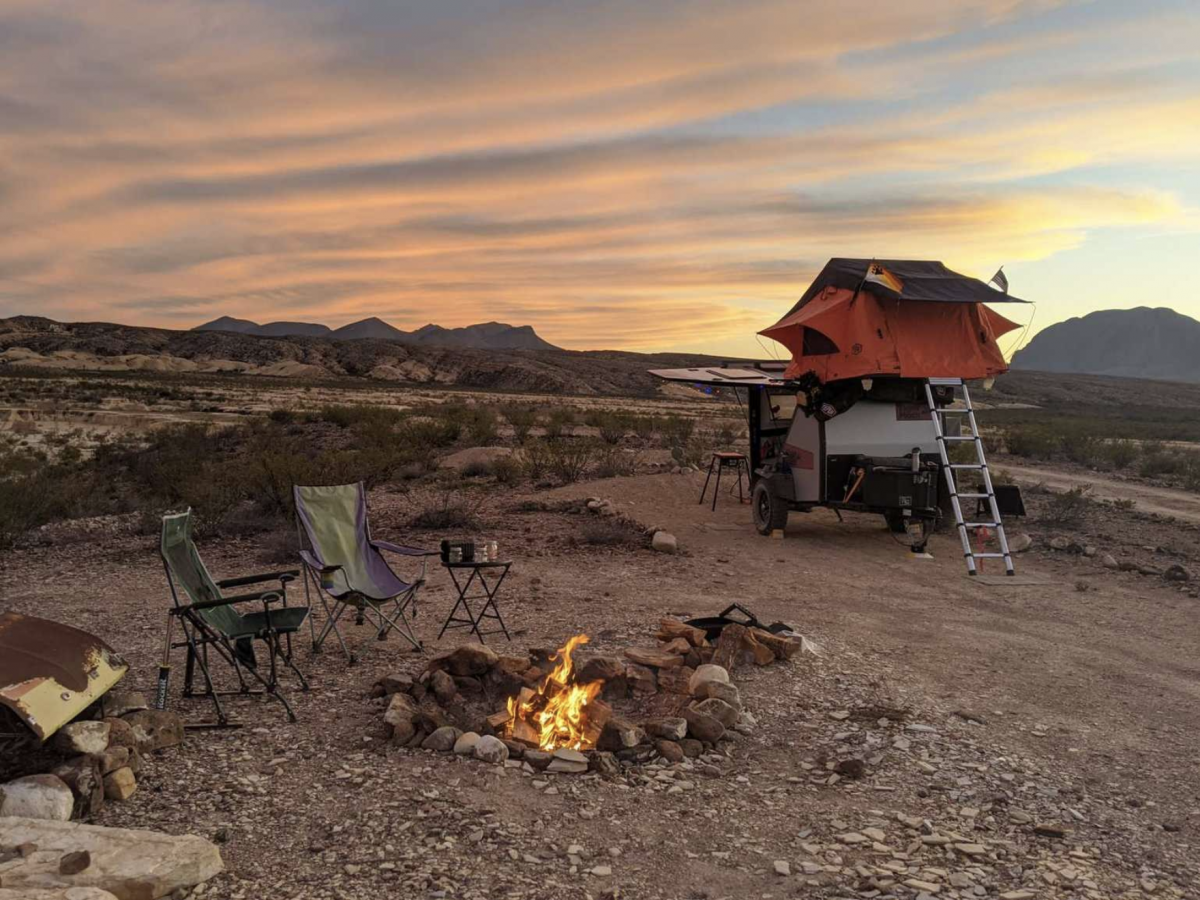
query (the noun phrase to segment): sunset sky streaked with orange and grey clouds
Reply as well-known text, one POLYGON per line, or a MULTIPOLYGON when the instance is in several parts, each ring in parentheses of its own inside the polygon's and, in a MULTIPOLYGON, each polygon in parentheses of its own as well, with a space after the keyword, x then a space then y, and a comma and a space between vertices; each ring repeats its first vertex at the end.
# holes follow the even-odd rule
POLYGON ((1200 317, 1194 0, 0 0, 0 317, 776 356, 829 257, 1200 317))

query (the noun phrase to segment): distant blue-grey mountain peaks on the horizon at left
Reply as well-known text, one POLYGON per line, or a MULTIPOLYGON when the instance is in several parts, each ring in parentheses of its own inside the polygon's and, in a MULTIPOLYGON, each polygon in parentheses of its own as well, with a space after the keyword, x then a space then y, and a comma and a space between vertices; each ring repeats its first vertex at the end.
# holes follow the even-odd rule
POLYGON ((438 347, 473 347, 480 350, 557 350, 544 341, 530 325, 505 325, 485 322, 466 328, 442 328, 424 325, 415 331, 401 331, 379 318, 371 317, 352 322, 341 328, 330 328, 314 322, 269 322, 259 325, 250 319, 222 316, 220 319, 197 325, 193 331, 233 331, 256 337, 331 337, 335 341, 401 341, 402 343, 432 344, 438 347))

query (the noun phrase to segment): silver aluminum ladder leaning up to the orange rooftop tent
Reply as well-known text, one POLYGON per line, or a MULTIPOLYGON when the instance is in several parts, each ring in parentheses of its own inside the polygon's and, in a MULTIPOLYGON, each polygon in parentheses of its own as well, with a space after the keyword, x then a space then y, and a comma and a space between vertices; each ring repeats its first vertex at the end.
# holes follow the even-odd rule
POLYGON ((996 503, 996 491, 991 484, 991 473, 988 470, 988 460, 984 457, 983 452, 983 440, 979 437, 979 426, 976 424, 974 408, 971 406, 971 392, 967 390, 966 383, 961 378, 928 378, 925 379, 925 398, 929 401, 929 412, 932 414, 934 420, 934 433, 937 436, 937 450, 942 455, 942 472, 946 473, 946 486, 950 491, 950 506, 954 508, 954 521, 959 527, 959 538, 962 539, 962 556, 967 563, 967 575, 976 575, 977 566, 976 560, 978 559, 1003 559, 1004 560, 1004 574, 1015 575, 1016 571, 1013 569, 1013 554, 1008 550, 1008 538, 1004 536, 1004 524, 1000 521, 1000 505, 996 503), (935 397, 935 388, 949 388, 950 389, 950 401, 946 406, 938 406, 935 397), (950 408, 955 401, 960 397, 958 391, 961 391, 962 407, 950 408), (966 414, 967 425, 971 428, 971 434, 958 436, 946 433, 946 422, 942 416, 953 414, 962 415, 966 414), (955 463, 950 462, 949 444, 952 443, 971 443, 974 445, 976 461, 968 463, 955 463), (983 479, 983 493, 970 492, 960 493, 958 487, 956 472, 978 472, 983 479), (976 508, 979 506, 978 500, 988 500, 988 509, 991 512, 991 521, 989 522, 968 522, 962 516, 962 504, 960 500, 977 500, 976 508), (1000 552, 998 553, 983 553, 977 552, 971 547, 972 535, 984 528, 991 528, 996 532, 996 538, 1000 540, 1000 552))

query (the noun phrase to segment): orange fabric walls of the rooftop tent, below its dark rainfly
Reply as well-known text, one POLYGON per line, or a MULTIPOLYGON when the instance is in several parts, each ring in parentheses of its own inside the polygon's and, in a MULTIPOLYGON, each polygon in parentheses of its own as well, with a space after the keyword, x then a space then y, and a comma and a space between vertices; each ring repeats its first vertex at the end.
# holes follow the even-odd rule
MULTIPOLYGON (((874 286, 872 286, 874 287, 874 286)), ((827 286, 760 334, 792 352, 785 378, 990 378, 1008 371, 996 338, 1020 328, 980 302, 881 299, 827 286)))

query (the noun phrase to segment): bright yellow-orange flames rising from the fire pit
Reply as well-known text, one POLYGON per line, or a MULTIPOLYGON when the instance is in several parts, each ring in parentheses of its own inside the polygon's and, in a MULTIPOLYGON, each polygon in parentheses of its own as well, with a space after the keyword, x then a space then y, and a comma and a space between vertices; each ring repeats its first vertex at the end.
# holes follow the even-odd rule
POLYGON ((516 733, 517 724, 524 722, 536 733, 541 750, 587 750, 594 746, 594 739, 587 734, 587 706, 600 694, 604 682, 575 684, 575 664, 571 660, 571 653, 587 642, 587 635, 576 635, 559 648, 551 656, 558 660, 558 665, 524 702, 509 697, 506 733, 510 737, 516 733))

